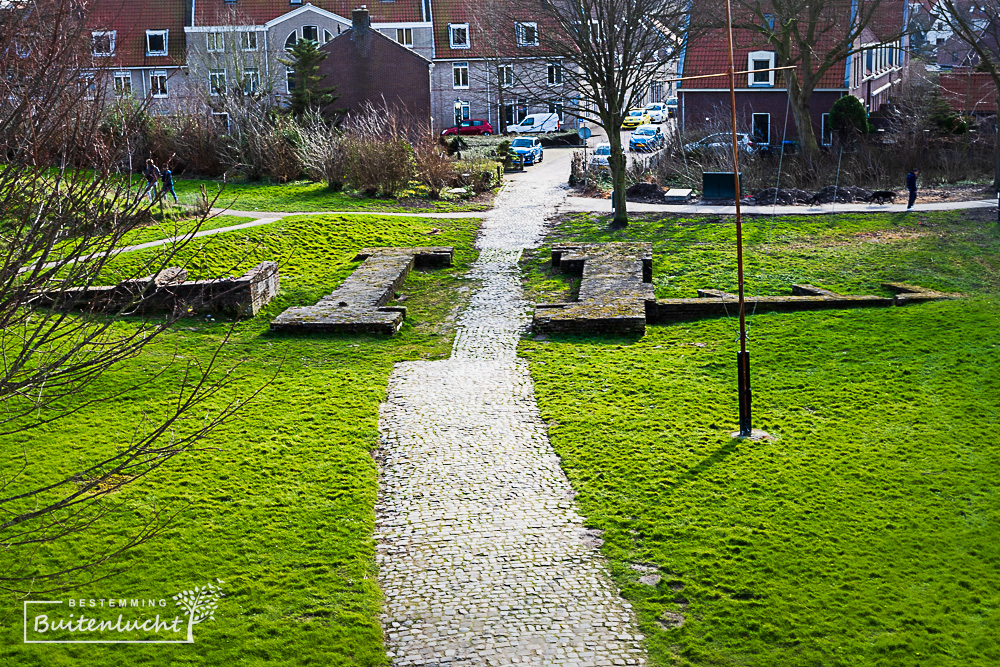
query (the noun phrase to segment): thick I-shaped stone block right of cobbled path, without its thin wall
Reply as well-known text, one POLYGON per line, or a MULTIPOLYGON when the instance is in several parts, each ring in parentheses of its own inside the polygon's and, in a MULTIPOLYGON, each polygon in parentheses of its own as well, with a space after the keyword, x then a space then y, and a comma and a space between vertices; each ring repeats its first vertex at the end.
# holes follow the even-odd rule
POLYGON ((552 267, 580 275, 577 301, 535 306, 538 333, 644 333, 653 293, 650 243, 559 244, 552 267))

